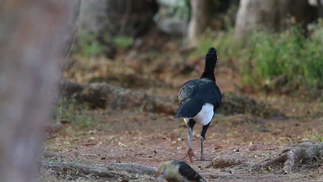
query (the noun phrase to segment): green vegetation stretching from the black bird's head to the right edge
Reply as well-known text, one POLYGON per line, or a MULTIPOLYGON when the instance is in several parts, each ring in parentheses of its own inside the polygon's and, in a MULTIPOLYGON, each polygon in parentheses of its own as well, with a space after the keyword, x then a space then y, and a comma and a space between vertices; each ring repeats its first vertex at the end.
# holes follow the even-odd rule
POLYGON ((250 90, 301 88, 313 94, 323 87, 323 23, 313 26, 306 35, 297 26, 280 33, 254 31, 243 47, 234 40, 234 31, 206 33, 198 52, 214 46, 222 60, 235 58, 242 75, 240 86, 250 90))

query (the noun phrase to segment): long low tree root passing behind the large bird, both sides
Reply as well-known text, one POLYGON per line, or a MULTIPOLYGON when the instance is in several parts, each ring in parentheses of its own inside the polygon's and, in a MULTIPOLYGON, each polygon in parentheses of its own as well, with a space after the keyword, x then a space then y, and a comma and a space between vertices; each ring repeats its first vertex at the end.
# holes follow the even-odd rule
MULTIPOLYGON (((88 102, 92 108, 129 109, 142 107, 147 112, 173 115, 179 105, 176 96, 166 98, 148 95, 142 91, 126 89, 104 82, 78 84, 62 81, 59 87, 64 97, 74 97, 81 102, 88 102)), ((223 95, 222 106, 218 112, 226 115, 252 114, 265 118, 283 116, 277 109, 268 105, 233 94, 223 95)))

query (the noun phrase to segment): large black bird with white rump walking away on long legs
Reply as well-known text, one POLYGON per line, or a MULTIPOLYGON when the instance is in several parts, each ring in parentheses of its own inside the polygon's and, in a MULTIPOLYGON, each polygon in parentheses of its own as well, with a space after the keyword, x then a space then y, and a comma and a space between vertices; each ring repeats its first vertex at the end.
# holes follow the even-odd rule
POLYGON ((174 118, 183 117, 188 126, 189 149, 186 154, 192 162, 192 157, 197 160, 205 160, 203 154, 203 142, 205 133, 210 122, 221 105, 222 95, 216 78, 214 77, 214 68, 218 62, 217 50, 210 48, 205 58, 205 68, 201 78, 189 80, 183 84, 178 94, 181 103, 177 109, 174 118), (203 124, 200 142, 201 157, 197 158, 192 151, 192 133, 196 122, 203 124))

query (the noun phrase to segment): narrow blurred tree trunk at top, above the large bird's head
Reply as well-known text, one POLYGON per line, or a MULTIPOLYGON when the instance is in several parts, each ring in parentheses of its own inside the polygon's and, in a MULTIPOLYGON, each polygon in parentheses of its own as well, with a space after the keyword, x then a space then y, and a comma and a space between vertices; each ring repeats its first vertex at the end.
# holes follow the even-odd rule
POLYGON ((211 18, 211 0, 190 0, 191 19, 188 25, 187 37, 190 43, 195 43, 198 35, 201 35, 211 18))

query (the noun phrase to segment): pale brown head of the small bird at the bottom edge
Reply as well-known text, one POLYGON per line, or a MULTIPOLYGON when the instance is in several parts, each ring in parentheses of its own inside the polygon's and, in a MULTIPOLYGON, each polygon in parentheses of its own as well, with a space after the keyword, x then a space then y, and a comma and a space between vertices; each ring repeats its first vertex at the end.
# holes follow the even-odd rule
POLYGON ((173 164, 173 161, 167 161, 159 164, 156 174, 158 179, 169 179, 176 175, 176 171, 178 171, 178 168, 173 164))

